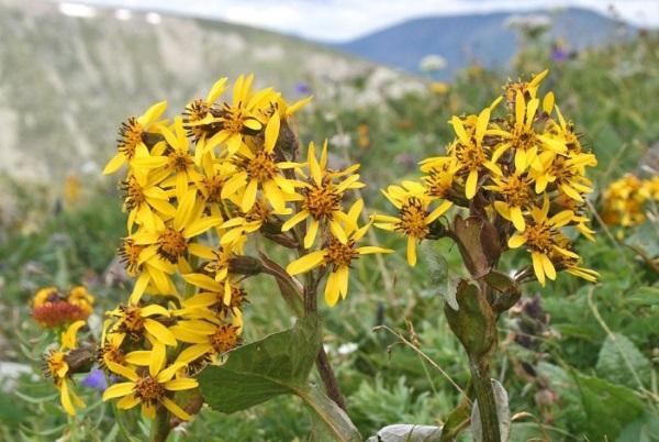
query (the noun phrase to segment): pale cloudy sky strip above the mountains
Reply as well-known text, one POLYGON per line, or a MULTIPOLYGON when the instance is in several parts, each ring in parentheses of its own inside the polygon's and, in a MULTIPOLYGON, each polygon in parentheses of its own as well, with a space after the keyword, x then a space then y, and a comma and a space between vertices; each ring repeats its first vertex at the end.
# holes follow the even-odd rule
MULTIPOLYGON (((523 13, 561 7, 581 7, 608 13, 613 5, 616 13, 630 23, 659 26, 659 0, 86 0, 85 3, 214 18, 334 42, 348 41, 425 15, 492 11, 523 13)), ((60 4, 60 10, 81 15, 93 13, 69 3, 60 4)), ((119 11, 118 18, 125 20, 130 18, 130 12, 119 11)), ((157 21, 156 15, 152 15, 152 19, 157 21)))

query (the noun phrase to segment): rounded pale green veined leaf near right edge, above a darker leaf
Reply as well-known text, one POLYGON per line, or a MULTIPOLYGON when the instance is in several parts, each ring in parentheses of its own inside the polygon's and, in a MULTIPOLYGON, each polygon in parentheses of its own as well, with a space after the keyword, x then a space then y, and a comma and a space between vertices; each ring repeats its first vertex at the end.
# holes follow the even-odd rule
POLYGON ((639 383, 649 385, 650 361, 627 336, 614 333, 606 338, 596 365, 597 375, 604 379, 630 388, 639 388, 639 383))

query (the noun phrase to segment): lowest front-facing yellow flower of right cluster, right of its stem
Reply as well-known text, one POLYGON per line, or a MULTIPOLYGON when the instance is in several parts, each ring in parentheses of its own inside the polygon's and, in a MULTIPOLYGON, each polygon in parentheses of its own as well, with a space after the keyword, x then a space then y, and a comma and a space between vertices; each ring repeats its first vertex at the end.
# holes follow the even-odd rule
POLYGON ((551 256, 559 253, 569 258, 579 259, 579 255, 560 246, 560 228, 572 221, 574 212, 563 210, 551 218, 549 213, 549 199, 545 198, 541 208, 534 207, 530 211, 532 220, 526 223, 524 232, 515 233, 509 240, 509 247, 517 248, 526 245, 530 253, 533 269, 541 286, 545 286, 545 276, 556 279, 556 268, 551 256))

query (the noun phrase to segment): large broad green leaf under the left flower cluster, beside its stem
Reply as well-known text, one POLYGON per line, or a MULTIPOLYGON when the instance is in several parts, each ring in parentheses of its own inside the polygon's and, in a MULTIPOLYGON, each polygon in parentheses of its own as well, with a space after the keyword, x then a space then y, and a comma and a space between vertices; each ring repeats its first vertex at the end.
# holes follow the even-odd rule
POLYGON ((215 410, 233 413, 278 395, 299 394, 320 346, 317 316, 299 319, 290 330, 230 352, 224 365, 206 367, 199 376, 201 395, 215 410))

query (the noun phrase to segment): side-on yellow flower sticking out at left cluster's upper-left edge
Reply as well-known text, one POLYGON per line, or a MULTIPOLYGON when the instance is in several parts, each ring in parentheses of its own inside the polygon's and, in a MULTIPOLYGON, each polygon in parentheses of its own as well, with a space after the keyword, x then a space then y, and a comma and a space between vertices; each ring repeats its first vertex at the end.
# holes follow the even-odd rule
POLYGON ((118 154, 108 162, 103 169, 103 175, 112 174, 126 162, 133 159, 136 154, 148 155, 148 150, 142 141, 142 135, 152 129, 156 120, 160 118, 163 112, 167 109, 167 101, 160 101, 146 110, 139 117, 131 117, 127 121, 122 123, 119 130, 119 152, 118 154))

